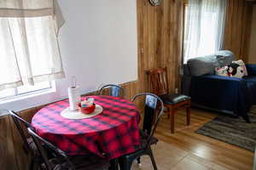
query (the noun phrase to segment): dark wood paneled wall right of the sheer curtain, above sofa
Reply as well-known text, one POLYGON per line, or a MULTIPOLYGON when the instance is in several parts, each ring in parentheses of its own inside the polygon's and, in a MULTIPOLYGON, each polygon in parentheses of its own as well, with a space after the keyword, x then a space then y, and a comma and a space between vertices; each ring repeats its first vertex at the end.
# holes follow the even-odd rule
POLYGON ((229 49, 236 59, 248 60, 253 4, 245 0, 228 0, 224 49, 229 49))

